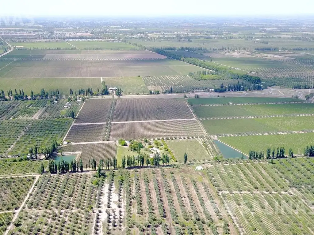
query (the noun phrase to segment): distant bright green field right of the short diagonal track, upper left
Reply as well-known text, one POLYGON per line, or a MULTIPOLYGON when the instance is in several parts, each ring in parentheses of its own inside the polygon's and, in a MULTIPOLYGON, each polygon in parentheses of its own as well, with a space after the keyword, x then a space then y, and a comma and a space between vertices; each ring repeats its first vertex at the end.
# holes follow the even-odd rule
POLYGON ((69 41, 79 50, 140 50, 139 47, 124 42, 69 41))

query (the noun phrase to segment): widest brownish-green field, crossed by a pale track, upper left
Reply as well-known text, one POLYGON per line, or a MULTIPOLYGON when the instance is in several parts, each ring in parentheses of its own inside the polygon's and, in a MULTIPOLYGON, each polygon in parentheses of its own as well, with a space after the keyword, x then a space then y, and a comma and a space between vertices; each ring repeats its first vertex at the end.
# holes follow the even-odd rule
POLYGON ((187 75, 198 70, 199 67, 178 60, 12 60, 1 69, 0 77, 135 77, 187 75))

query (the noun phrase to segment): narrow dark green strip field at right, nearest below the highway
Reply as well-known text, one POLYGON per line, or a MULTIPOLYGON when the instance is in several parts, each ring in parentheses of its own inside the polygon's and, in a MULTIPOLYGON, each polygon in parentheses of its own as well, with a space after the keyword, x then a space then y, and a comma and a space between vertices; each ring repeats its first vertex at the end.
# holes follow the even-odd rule
POLYGON ((302 102, 294 98, 272 98, 272 97, 219 97, 219 98, 191 98, 187 99, 191 105, 202 104, 246 104, 246 103, 276 103, 276 102, 302 102))

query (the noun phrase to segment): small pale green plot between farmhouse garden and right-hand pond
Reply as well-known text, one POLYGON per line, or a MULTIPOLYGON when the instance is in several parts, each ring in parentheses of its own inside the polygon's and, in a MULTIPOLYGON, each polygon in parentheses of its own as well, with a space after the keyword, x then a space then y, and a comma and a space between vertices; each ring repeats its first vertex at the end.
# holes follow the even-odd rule
POLYGON ((210 159, 208 152, 202 146, 201 139, 166 140, 166 144, 179 162, 184 161, 184 153, 187 153, 188 162, 210 159))

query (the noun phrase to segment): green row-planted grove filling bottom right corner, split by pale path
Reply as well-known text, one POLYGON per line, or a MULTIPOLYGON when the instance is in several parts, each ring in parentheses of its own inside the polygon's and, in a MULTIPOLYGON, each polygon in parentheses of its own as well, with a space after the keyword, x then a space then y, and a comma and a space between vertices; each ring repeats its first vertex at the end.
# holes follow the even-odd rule
POLYGON ((211 183, 246 234, 313 231, 311 158, 210 166, 211 183))

